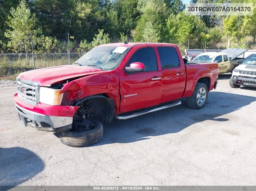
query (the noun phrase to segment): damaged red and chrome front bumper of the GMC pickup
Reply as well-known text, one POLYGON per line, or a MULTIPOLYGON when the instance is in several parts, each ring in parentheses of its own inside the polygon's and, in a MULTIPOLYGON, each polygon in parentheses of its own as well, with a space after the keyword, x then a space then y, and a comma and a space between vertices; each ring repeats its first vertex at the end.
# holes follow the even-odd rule
POLYGON ((72 106, 50 106, 41 103, 31 106, 22 102, 17 94, 14 96, 14 101, 22 125, 50 132, 63 132, 72 129, 73 116, 79 108, 72 106), (38 113, 36 111, 41 112, 38 113), (57 116, 57 114, 62 116, 57 116))

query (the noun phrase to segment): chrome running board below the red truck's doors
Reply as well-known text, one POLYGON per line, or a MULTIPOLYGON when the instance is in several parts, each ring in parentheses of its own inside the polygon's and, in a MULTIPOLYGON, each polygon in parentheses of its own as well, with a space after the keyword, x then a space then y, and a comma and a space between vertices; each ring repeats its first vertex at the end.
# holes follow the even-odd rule
POLYGON ((154 109, 133 113, 131 115, 126 115, 126 116, 116 115, 115 118, 120 119, 120 120, 130 119, 130 118, 133 118, 133 117, 138 117, 138 116, 141 116, 141 115, 152 113, 154 111, 164 110, 164 109, 167 109, 169 107, 175 107, 175 106, 178 106, 180 104, 181 104, 180 100, 174 100, 174 103, 171 103, 171 104, 168 104, 168 105, 164 105, 164 106, 157 107, 157 108, 154 108, 154 109))

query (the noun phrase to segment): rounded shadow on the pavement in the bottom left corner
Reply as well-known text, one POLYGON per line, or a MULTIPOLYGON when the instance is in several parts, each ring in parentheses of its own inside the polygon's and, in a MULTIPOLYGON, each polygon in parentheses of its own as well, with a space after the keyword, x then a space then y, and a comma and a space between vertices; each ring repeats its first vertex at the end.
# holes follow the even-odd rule
POLYGON ((0 148, 0 186, 16 186, 44 169, 44 162, 32 151, 0 148))

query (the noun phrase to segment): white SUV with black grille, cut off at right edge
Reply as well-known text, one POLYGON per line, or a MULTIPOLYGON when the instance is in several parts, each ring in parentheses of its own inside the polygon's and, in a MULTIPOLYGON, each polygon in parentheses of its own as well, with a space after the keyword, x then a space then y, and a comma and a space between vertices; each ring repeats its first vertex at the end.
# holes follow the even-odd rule
POLYGON ((229 85, 231 88, 239 88, 241 85, 256 87, 256 54, 251 54, 234 68, 229 85))

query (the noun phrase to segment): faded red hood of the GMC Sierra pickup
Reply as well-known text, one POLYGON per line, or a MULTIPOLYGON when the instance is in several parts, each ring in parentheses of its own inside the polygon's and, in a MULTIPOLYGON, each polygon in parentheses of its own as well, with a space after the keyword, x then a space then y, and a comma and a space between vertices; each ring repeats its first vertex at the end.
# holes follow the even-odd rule
POLYGON ((88 76, 101 72, 106 71, 87 66, 62 65, 22 72, 18 75, 17 79, 27 81, 27 83, 31 85, 51 86, 52 84, 67 79, 88 76))

